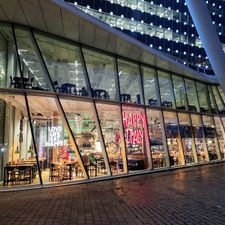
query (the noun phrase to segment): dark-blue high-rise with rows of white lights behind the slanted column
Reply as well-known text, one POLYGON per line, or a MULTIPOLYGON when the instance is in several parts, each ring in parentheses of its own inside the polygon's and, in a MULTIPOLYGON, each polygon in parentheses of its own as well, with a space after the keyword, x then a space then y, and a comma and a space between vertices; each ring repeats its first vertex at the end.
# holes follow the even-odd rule
MULTIPOLYGON (((214 74, 185 0, 65 1, 194 70, 214 74)), ((225 51, 225 2, 206 4, 225 51)))

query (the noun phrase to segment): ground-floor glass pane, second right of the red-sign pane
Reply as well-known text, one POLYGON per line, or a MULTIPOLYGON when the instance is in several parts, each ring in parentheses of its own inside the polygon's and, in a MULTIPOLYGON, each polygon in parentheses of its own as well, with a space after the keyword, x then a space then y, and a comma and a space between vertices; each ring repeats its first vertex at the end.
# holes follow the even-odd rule
POLYGON ((184 155, 182 150, 182 143, 179 134, 178 121, 176 113, 163 112, 167 146, 170 157, 170 165, 184 165, 184 155))

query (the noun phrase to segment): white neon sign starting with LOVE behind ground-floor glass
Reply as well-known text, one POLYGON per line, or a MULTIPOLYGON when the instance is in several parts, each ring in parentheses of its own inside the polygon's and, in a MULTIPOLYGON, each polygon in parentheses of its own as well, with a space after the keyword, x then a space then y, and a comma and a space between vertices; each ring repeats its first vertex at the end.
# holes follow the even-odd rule
POLYGON ((49 127, 49 141, 47 146, 62 146, 62 128, 61 127, 49 127))

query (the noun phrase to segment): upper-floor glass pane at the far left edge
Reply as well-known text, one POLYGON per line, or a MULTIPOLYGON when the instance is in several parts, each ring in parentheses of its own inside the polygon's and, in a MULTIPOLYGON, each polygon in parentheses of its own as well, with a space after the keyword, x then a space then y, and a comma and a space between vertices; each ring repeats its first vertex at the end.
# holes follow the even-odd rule
POLYGON ((0 25, 0 87, 22 88, 12 28, 0 25))

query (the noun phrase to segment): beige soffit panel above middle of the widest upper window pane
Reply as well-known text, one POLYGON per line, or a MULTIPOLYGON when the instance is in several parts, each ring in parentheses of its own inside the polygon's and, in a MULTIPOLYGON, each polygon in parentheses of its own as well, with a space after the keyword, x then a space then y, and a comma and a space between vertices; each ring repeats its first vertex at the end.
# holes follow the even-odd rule
POLYGON ((39 0, 44 14, 47 30, 53 34, 64 37, 62 24, 61 8, 54 5, 51 1, 39 0))

